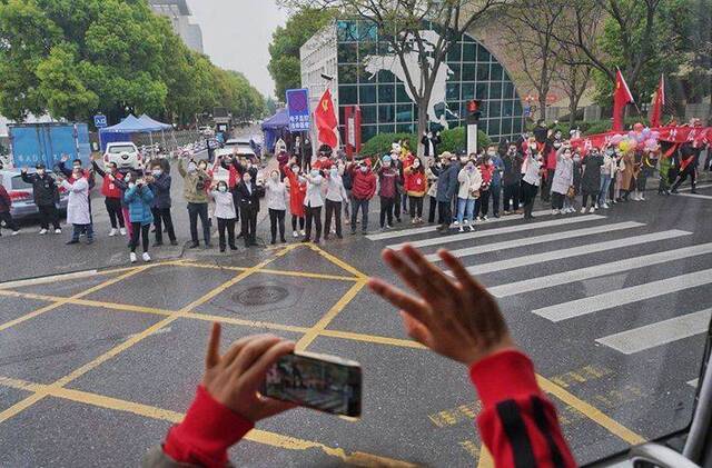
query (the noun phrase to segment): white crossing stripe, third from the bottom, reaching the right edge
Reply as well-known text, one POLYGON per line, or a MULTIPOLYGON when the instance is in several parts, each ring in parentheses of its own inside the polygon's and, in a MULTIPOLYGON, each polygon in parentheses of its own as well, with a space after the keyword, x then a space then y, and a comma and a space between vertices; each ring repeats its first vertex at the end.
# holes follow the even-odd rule
MULTIPOLYGON (((632 242, 632 240, 631 240, 632 242)), ((495 297, 506 297, 521 295, 523 292, 538 291, 540 289, 553 288, 554 286, 568 285, 571 282, 583 281, 585 279, 597 278, 606 275, 615 275, 637 268, 651 267, 653 265, 665 263, 668 261, 681 260, 712 253, 712 242, 699 246, 684 247, 682 249, 665 250, 641 257, 626 258, 612 261, 610 263, 594 265, 593 267, 581 268, 572 271, 548 275, 522 281, 508 282, 495 286, 488 291, 495 297)))

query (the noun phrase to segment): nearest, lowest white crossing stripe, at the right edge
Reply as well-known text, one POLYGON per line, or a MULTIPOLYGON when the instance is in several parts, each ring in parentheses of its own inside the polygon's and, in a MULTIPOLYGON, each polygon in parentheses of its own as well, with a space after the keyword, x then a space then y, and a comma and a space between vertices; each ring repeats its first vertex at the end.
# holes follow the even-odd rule
POLYGON ((599 338, 596 342, 613 348, 624 355, 644 351, 662 345, 668 345, 683 338, 704 333, 710 326, 712 309, 686 313, 643 327, 621 331, 599 338))

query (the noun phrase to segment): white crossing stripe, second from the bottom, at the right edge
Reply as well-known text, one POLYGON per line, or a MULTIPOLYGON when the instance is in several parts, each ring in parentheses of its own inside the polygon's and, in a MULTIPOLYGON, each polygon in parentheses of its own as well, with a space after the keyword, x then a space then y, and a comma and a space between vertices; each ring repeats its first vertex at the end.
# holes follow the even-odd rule
POLYGON ((562 321, 709 283, 712 283, 712 269, 680 275, 659 281, 651 281, 645 285, 632 286, 602 295, 562 302, 555 306, 535 309, 532 310, 532 312, 551 321, 562 321))

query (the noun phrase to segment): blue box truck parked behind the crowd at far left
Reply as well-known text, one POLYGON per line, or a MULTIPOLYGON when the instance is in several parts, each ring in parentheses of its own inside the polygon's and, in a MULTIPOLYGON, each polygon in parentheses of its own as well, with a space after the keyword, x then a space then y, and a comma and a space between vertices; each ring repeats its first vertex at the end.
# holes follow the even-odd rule
POLYGON ((43 163, 53 169, 62 155, 89 165, 91 147, 87 123, 14 123, 8 126, 10 155, 16 168, 43 163))

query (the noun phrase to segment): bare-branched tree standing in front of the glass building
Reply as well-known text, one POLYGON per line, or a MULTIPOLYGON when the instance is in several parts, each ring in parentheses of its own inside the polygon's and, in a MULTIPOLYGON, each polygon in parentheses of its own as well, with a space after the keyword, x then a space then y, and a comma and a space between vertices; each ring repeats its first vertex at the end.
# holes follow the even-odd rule
MULTIPOLYGON (((404 70, 405 86, 418 110, 418 135, 428 128, 433 88, 442 79, 447 52, 478 20, 511 0, 280 0, 291 8, 333 8, 339 13, 370 22, 404 70), (427 26, 432 26, 432 31, 427 26), (434 33, 433 33, 434 32, 434 33), (411 71, 408 61, 417 70, 411 71)), ((418 142, 418 155, 423 145, 418 142)))

